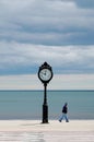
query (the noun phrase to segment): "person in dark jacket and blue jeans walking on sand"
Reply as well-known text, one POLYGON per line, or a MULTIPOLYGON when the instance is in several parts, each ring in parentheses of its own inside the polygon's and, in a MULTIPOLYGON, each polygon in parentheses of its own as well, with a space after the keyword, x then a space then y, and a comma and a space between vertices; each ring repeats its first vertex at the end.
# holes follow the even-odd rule
POLYGON ((69 122, 67 114, 68 114, 68 103, 66 103, 64 106, 62 107, 62 116, 59 119, 60 122, 62 121, 63 118, 66 119, 66 122, 69 122))

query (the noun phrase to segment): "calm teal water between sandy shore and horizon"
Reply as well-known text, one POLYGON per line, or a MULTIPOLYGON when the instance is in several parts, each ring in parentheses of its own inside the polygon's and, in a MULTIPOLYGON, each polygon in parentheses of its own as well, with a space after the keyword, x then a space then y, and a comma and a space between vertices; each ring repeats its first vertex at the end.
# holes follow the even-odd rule
MULTIPOLYGON (((42 119, 43 91, 0 91, 0 119, 42 119)), ((69 119, 94 119, 94 91, 48 91, 48 117, 58 119, 64 102, 69 119)))

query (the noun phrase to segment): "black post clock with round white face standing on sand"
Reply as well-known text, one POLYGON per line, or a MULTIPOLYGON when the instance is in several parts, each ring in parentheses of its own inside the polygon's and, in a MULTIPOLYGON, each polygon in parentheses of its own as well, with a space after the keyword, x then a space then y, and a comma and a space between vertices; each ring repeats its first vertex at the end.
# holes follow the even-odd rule
POLYGON ((52 79, 52 75, 51 67, 44 62, 38 70, 38 78, 44 84, 43 123, 48 123, 47 84, 52 79))

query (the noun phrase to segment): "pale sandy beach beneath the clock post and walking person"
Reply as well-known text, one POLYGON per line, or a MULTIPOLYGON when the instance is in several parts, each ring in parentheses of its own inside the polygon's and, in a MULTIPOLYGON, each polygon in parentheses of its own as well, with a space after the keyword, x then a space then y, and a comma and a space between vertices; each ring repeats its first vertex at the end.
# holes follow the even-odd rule
POLYGON ((94 142, 94 120, 0 120, 0 142, 94 142))

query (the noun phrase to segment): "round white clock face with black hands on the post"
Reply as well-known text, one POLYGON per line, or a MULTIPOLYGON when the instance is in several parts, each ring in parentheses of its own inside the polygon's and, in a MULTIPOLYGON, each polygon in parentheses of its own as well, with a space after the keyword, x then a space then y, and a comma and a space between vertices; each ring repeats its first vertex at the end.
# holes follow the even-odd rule
POLYGON ((43 81, 49 81, 51 79, 51 71, 48 69, 40 70, 39 78, 43 81))

